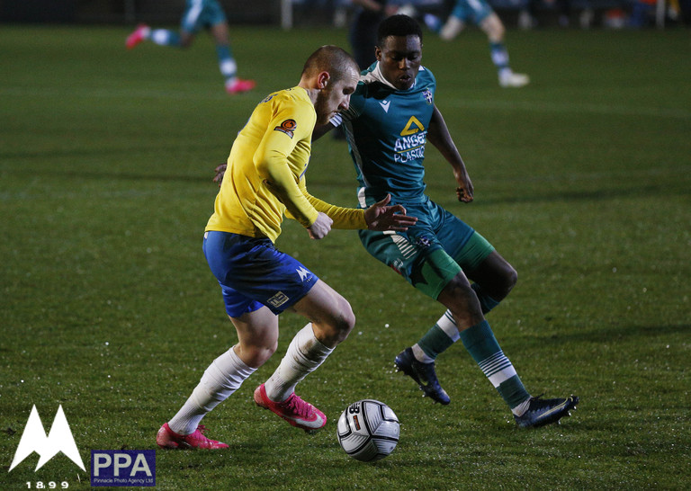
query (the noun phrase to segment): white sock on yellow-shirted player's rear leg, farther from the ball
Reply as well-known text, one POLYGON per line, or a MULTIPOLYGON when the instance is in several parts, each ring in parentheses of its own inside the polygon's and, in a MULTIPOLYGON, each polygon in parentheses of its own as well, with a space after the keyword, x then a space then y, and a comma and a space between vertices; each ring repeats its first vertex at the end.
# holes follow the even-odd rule
POLYGON ((255 370, 240 360, 233 348, 221 354, 211 362, 192 395, 168 422, 170 429, 178 434, 194 433, 202 418, 238 390, 255 370))

